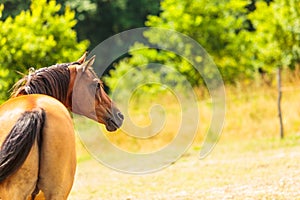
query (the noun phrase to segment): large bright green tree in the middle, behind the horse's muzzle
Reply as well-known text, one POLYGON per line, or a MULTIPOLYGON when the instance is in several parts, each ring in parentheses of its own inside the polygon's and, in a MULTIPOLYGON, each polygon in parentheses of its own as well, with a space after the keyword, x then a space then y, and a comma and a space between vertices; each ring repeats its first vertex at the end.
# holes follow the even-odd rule
MULTIPOLYGON (((146 21, 149 27, 160 27, 178 31, 183 33, 195 41, 213 57, 215 63, 219 67, 224 79, 227 82, 235 82, 239 78, 249 78, 255 69, 251 62, 251 55, 247 54, 249 39, 245 38, 249 32, 250 25, 247 23, 247 5, 248 1, 203 1, 203 0, 164 0, 161 2, 161 10, 159 16, 150 15, 146 21)), ((173 49, 183 49, 183 56, 193 59, 194 63, 198 63, 205 69, 206 76, 214 79, 214 71, 205 63, 202 55, 194 55, 191 45, 184 43, 180 38, 169 37, 164 34, 157 34, 155 31, 148 31, 145 37, 152 44, 159 45, 162 41, 168 39, 168 45, 173 49)), ((141 44, 137 44, 141 45, 141 44)), ((134 49, 134 48, 133 48, 134 49)), ((130 52, 131 57, 126 58, 116 70, 111 72, 112 78, 107 79, 110 87, 114 86, 113 81, 116 77, 122 77, 134 67, 140 67, 141 61, 148 63, 162 63, 172 66, 176 72, 185 76, 192 86, 203 84, 201 75, 194 67, 182 57, 172 52, 144 48, 139 51, 130 52)), ((146 66, 144 64, 144 66, 146 66)), ((160 76, 160 72, 154 69, 146 68, 141 71, 145 75, 157 74, 161 80, 165 80, 165 76, 160 76)), ((168 73, 169 74, 169 73, 168 73)), ((178 84, 176 74, 169 74, 170 81, 173 79, 178 84)), ((136 81, 134 77, 130 80, 136 81)), ((124 85, 124 87, 126 87, 124 85)))

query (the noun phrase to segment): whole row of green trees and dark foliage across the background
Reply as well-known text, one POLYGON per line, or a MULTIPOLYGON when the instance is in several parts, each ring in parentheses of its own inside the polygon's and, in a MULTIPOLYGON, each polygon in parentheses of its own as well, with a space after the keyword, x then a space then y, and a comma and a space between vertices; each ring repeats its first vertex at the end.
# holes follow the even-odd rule
MULTIPOLYGON (((18 79, 16 71, 26 73, 29 67, 78 57, 88 44, 77 42, 74 29, 79 39, 91 41, 90 49, 118 32, 143 25, 176 30, 203 46, 227 83, 251 80, 258 69, 294 69, 300 67, 299 1, 57 0, 56 4, 33 0, 30 5, 29 1, 8 0, 4 10, 2 7, 0 21, 0 99, 7 97, 8 88, 18 79)), ((153 31, 146 32, 145 37, 154 45, 166 39, 153 31)), ((214 78, 210 66, 204 64, 202 55, 193 54, 190 44, 176 37, 167 39, 171 48, 181 49, 184 57, 204 66, 206 75, 214 78)), ((111 47, 110 51, 116 48, 111 47)), ((134 77, 124 83, 124 88, 136 85, 140 79, 176 87, 185 80, 192 86, 203 84, 202 76, 191 63, 172 52, 135 44, 129 54, 129 58, 115 65, 116 70, 111 70, 112 77, 105 79, 109 87, 115 87, 128 72, 134 77), (137 47, 142 48, 135 50, 137 47), (148 63, 169 68, 167 72, 166 68, 160 71, 148 63)), ((154 85, 143 88, 149 92, 151 87, 165 90, 154 85)))

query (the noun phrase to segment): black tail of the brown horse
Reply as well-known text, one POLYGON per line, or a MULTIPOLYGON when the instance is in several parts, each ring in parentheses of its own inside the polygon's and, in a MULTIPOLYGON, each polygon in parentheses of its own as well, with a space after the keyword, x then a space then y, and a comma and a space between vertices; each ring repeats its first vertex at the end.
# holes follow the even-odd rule
POLYGON ((43 109, 24 112, 5 138, 0 150, 0 182, 16 172, 35 140, 40 146, 46 114, 43 109))

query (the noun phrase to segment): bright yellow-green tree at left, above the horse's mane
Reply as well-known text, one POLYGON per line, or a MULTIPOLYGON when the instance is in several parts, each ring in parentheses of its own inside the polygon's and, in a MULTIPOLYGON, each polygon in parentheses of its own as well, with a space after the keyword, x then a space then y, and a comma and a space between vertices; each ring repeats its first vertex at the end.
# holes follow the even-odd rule
POLYGON ((60 8, 55 1, 32 0, 30 10, 0 21, 1 100, 8 98, 9 89, 20 78, 17 72, 27 74, 29 67, 73 61, 87 49, 89 42, 77 42, 73 30, 75 13, 66 7, 59 15, 60 8))

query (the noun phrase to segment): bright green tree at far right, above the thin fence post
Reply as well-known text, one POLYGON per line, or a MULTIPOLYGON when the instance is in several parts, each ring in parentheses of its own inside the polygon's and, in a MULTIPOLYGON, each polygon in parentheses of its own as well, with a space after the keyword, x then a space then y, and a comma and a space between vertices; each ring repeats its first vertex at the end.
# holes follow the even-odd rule
POLYGON ((278 66, 294 68, 300 63, 300 1, 276 0, 256 3, 249 14, 256 31, 251 33, 253 65, 267 71, 278 66))

